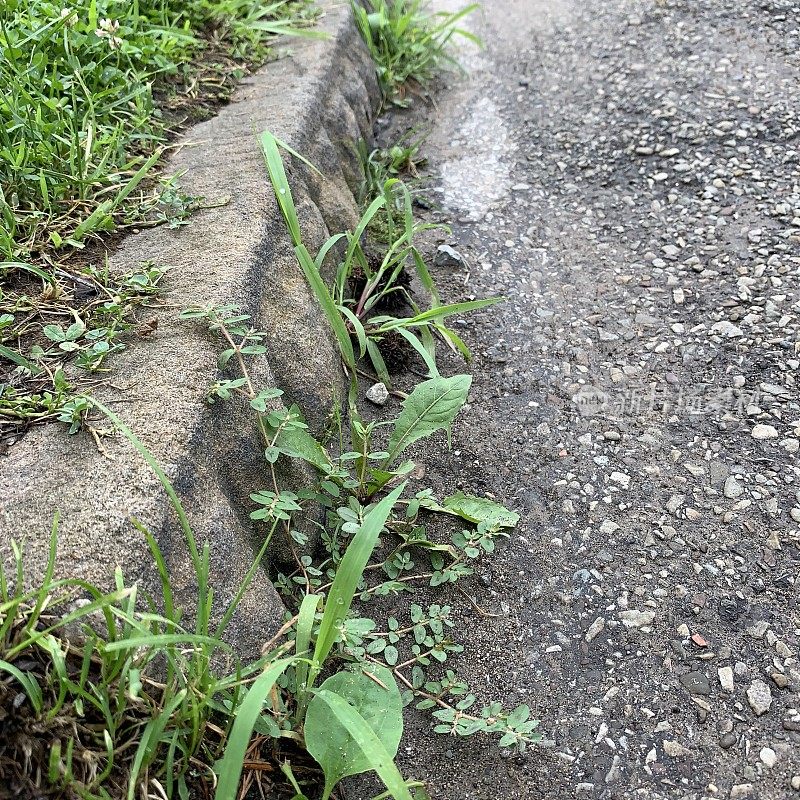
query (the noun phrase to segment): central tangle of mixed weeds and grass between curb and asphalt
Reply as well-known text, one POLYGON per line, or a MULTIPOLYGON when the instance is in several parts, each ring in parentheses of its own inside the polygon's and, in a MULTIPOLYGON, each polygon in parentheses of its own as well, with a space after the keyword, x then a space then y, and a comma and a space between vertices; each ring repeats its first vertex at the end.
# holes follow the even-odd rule
POLYGON ((277 679, 282 694, 273 702, 265 730, 272 736, 301 735, 324 772, 323 800, 342 777, 368 769, 381 777, 392 797, 406 797, 409 784, 402 783, 396 768, 387 768, 401 739, 403 705, 415 703, 420 710, 430 710, 438 733, 490 733, 499 736, 501 746, 520 749, 541 738, 527 705, 514 709, 496 702, 477 705, 476 696, 452 669, 442 671, 442 665, 449 665, 463 649, 453 636, 456 623, 448 605, 424 608, 412 603, 404 622, 390 617, 379 624, 365 616, 376 597, 412 593, 418 586, 455 584, 472 574, 475 562, 491 554, 496 542, 519 520, 517 514, 487 498, 459 492, 439 501, 430 490, 410 493, 407 484, 415 465, 405 457, 406 451, 439 431, 449 435, 471 384, 469 375, 443 377, 439 373, 434 336, 452 345, 451 332, 441 320, 493 301, 439 304, 424 260, 413 245, 416 227, 410 196, 395 181, 390 188, 397 186, 401 192, 403 219, 400 224, 391 212, 387 215, 393 237, 381 266, 368 281, 376 294, 365 291, 358 301, 350 298, 348 302, 343 277, 350 277, 348 265, 366 261, 361 237, 375 211, 386 202, 385 192, 370 204, 353 233, 331 237, 312 258, 302 242, 278 144, 269 134, 262 144, 298 262, 331 323, 351 375, 347 416, 339 418, 339 435, 326 448, 312 436, 300 410, 282 404, 279 391, 253 385, 247 360, 264 354, 264 334, 250 327, 246 315, 231 307, 184 312, 187 319, 206 321, 219 335, 224 348, 220 366, 235 373, 217 381, 209 399, 217 402, 241 395, 258 420, 271 485, 251 494, 256 505, 251 518, 272 525, 279 522, 295 554, 296 568, 280 574, 275 586, 289 607, 296 609, 296 625, 287 635, 294 636, 297 654, 311 652, 312 656, 310 662, 290 665, 277 679), (320 267, 340 242, 342 260, 329 289, 320 267), (408 317, 361 314, 368 310, 369 298, 389 290, 378 288, 381 274, 409 262, 431 291, 431 307, 422 311, 409 297, 408 317), (370 346, 382 330, 392 329, 407 335, 430 377, 403 395, 395 419, 367 422, 355 402, 359 361, 370 354, 380 374, 370 346), (419 337, 412 331, 419 331, 419 337), (337 438, 338 449, 334 449, 337 438), (306 462, 317 471, 317 481, 297 492, 282 491, 275 468, 280 459, 306 462), (377 499, 391 487, 388 495, 377 499), (319 508, 325 515, 321 541, 326 555, 315 560, 297 550, 296 545, 305 543, 297 529, 302 528, 298 523, 307 512, 319 508), (450 515, 461 522, 461 530, 447 543, 435 541, 426 529, 427 514, 450 515), (379 524, 373 524, 375 519, 379 524), (333 674, 315 689, 326 660, 333 674))

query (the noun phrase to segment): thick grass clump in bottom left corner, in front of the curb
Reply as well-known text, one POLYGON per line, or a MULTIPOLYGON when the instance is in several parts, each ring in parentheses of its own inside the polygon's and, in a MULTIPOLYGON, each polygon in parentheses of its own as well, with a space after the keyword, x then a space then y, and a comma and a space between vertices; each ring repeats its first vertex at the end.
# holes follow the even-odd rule
POLYGON ((163 557, 143 534, 161 613, 119 569, 112 592, 54 579, 56 525, 38 587, 26 590, 15 543, 11 576, 0 562, 0 784, 11 796, 186 798, 201 785, 207 794, 233 723, 219 709, 237 708, 253 676, 282 663, 286 647, 239 664, 221 638, 228 612, 210 622, 208 553, 196 547, 197 604, 182 624, 163 557))

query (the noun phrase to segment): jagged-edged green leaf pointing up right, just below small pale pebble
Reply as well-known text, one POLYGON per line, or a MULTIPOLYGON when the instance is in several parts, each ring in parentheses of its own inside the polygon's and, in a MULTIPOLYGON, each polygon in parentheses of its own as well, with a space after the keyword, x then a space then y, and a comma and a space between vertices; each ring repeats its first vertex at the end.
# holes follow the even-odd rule
POLYGON ((447 431, 449 439, 450 426, 466 402, 471 384, 469 375, 431 378, 418 384, 403 401, 403 411, 389 439, 389 457, 383 466, 390 464, 417 439, 436 431, 447 431))

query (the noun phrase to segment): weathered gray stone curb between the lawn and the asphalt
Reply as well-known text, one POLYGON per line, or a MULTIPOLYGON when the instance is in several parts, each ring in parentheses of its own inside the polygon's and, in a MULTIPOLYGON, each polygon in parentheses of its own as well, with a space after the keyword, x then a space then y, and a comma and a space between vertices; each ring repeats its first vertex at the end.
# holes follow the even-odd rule
MULTIPOLYGON (((354 145, 369 139, 378 105, 374 65, 348 4, 323 4, 324 40, 291 39, 291 54, 246 80, 218 116, 188 130, 167 165, 182 189, 206 203, 188 226, 127 237, 112 269, 143 261, 169 267, 156 330, 132 337, 111 362, 96 396, 142 439, 175 483, 198 541, 208 539, 214 591, 230 598, 264 534, 249 519, 250 492, 269 488, 263 447, 246 404, 209 406, 219 344, 202 324, 182 322, 195 305, 238 304, 268 332, 266 357, 254 360, 260 388, 277 386, 320 428, 344 391, 338 351, 295 261, 257 141, 265 129, 314 163, 288 165, 305 244, 315 253, 329 231, 357 219, 360 168, 354 145)), ((92 424, 110 431, 104 419, 92 424)), ((136 517, 157 535, 174 588, 188 603, 194 575, 175 515, 155 475, 122 436, 68 436, 63 426, 32 430, 0 457, 0 556, 26 542, 30 578, 46 561, 53 515, 60 513, 58 573, 110 586, 117 565, 129 582, 152 586, 152 560, 136 517)), ((287 487, 304 475, 286 476, 287 487)), ((278 549, 280 555, 280 548, 278 549)), ((282 605, 265 574, 245 598, 235 637, 255 653, 280 622, 282 605)))

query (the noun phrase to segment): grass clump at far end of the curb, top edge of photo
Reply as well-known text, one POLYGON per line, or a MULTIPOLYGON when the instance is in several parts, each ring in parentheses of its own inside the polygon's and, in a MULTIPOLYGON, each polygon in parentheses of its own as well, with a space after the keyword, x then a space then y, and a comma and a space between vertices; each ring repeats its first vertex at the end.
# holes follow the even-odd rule
POLYGON ((429 10, 427 0, 365 0, 364 5, 352 6, 384 99, 396 105, 407 105, 409 93, 426 88, 443 64, 457 64, 448 53, 454 36, 479 41, 459 27, 477 4, 436 13, 429 10))

